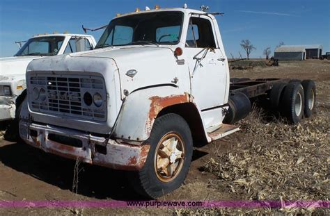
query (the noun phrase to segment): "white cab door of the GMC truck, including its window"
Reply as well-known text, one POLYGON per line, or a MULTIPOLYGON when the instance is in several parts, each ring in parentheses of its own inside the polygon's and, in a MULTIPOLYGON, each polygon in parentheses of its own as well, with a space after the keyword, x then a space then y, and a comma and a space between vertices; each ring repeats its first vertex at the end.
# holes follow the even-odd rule
POLYGON ((201 109, 207 132, 221 125, 221 106, 226 95, 226 57, 215 38, 210 17, 190 17, 184 52, 191 75, 191 94, 201 109))

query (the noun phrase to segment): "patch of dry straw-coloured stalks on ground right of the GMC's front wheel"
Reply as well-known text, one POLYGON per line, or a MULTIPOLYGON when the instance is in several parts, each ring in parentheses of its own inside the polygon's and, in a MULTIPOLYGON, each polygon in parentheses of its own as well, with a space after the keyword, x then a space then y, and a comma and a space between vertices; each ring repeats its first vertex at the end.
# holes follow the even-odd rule
MULTIPOLYGON (((321 110, 297 126, 265 122, 260 116, 260 110, 253 110, 240 122, 244 139, 239 140, 237 147, 224 156, 216 153, 205 164, 205 172, 217 176, 210 181, 210 187, 226 185, 237 199, 243 200, 329 200, 329 112, 321 110)), ((218 210, 219 213, 233 211, 218 210)), ((269 210, 252 211, 269 213, 269 210)), ((314 210, 272 211, 312 213, 314 210)), ((251 210, 235 212, 251 213, 251 210)))

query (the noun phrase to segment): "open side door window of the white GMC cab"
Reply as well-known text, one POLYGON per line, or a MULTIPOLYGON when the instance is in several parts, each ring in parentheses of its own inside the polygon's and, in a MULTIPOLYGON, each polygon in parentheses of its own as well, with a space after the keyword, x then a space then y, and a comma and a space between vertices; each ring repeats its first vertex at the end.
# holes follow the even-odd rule
POLYGON ((186 47, 215 47, 212 24, 208 19, 203 19, 200 17, 190 18, 186 47))

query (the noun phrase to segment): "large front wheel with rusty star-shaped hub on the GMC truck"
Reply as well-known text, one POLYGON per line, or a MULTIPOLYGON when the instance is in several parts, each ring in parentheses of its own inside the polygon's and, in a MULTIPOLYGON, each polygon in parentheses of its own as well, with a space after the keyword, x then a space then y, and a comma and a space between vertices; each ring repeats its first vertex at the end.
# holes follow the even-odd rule
POLYGON ((148 143, 146 163, 130 181, 139 194, 157 198, 183 183, 191 164, 193 140, 187 122, 180 115, 167 114, 155 120, 148 143))

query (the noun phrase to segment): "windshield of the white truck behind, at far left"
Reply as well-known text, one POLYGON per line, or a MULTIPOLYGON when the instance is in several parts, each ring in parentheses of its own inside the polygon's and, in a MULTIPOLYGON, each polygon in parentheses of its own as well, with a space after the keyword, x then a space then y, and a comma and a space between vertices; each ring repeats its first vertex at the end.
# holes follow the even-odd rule
POLYGON ((55 56, 65 37, 30 38, 15 56, 55 56))

